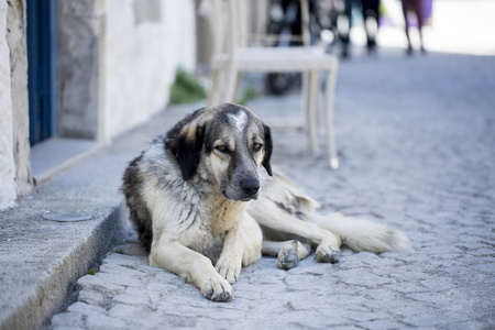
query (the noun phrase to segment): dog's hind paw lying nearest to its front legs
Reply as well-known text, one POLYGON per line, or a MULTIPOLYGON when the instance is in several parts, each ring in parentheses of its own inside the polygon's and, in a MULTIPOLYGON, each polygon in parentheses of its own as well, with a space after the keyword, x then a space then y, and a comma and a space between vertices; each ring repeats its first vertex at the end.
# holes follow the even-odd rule
POLYGON ((263 241, 262 253, 277 256, 278 267, 284 270, 294 268, 300 260, 304 260, 311 252, 309 244, 304 244, 297 240, 290 241, 263 241))

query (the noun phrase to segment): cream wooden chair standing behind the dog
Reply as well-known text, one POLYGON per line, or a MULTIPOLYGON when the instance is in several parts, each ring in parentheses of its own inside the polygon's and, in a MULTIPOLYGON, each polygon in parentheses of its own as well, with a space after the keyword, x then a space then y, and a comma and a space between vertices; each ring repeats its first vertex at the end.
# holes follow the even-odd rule
POLYGON ((248 47, 246 13, 250 0, 212 0, 211 30, 213 34, 213 56, 211 59, 211 90, 209 103, 233 102, 238 92, 241 74, 245 72, 264 73, 302 73, 302 108, 310 150, 318 148, 317 112, 319 74, 326 73, 326 130, 327 151, 331 168, 339 167, 333 130, 333 103, 338 70, 338 58, 324 54, 320 47, 309 45, 309 9, 308 1, 300 0, 302 41, 299 47, 248 47), (248 1, 248 2, 245 2, 248 1), (224 7, 227 4, 227 7, 224 7), (227 12, 228 15, 223 13, 227 12), (227 22, 226 22, 227 21, 227 22), (228 25, 226 33, 224 26, 228 25), (223 86, 222 86, 223 85, 223 86))

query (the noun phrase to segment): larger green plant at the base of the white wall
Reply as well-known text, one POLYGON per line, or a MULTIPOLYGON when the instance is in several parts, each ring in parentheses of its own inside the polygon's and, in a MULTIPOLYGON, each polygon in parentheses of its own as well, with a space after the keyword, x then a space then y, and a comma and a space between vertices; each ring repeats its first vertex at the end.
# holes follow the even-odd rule
POLYGON ((179 67, 175 75, 175 81, 170 87, 170 102, 197 102, 205 99, 206 96, 205 87, 202 87, 198 78, 179 67))

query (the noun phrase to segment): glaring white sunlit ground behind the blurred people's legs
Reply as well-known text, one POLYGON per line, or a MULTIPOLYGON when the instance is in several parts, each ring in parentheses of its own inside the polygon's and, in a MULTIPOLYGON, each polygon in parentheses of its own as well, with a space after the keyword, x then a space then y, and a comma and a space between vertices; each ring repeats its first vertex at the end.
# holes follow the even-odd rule
MULTIPOLYGON (((380 29, 378 45, 405 50, 407 38, 404 32, 404 16, 400 1, 382 0, 387 11, 387 22, 380 29)), ((428 51, 495 55, 495 1, 492 0, 433 0, 432 19, 424 28, 425 45, 428 51)), ((355 45, 365 45, 366 36, 360 18, 351 31, 355 45)), ((416 28, 409 30, 413 45, 419 50, 419 34, 416 28)))

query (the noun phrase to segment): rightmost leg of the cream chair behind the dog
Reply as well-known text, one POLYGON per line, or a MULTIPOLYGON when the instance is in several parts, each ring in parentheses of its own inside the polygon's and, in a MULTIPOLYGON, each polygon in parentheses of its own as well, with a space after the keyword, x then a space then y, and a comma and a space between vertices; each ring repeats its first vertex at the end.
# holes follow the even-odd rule
POLYGON ((339 167, 339 158, 337 156, 336 132, 333 108, 336 102, 336 82, 337 82, 338 63, 336 62, 332 69, 327 75, 327 91, 326 91, 326 107, 327 107, 327 150, 330 158, 330 167, 337 169, 339 167))

